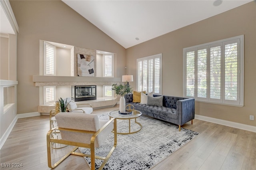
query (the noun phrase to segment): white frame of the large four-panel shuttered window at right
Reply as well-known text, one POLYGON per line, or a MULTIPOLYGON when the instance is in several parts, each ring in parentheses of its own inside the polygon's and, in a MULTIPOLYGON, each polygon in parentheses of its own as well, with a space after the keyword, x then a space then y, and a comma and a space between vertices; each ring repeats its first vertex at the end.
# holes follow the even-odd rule
POLYGON ((235 36, 232 38, 227 38, 223 40, 218 40, 215 42, 204 43, 200 45, 195 45, 192 47, 186 47, 183 49, 183 96, 189 98, 195 98, 195 101, 216 103, 223 105, 233 105, 233 106, 244 106, 244 35, 235 36), (237 100, 227 100, 225 99, 225 45, 231 43, 237 43, 237 100), (220 99, 210 98, 210 49, 220 45, 220 99), (206 73, 206 98, 198 97, 198 50, 207 47, 207 73, 206 73), (194 51, 194 96, 187 96, 187 53, 194 51))

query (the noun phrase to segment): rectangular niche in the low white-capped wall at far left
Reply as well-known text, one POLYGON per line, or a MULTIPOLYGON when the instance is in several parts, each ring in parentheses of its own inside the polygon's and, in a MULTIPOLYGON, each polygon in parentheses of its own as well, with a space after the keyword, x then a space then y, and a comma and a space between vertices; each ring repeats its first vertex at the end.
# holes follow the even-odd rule
POLYGON ((15 103, 15 87, 4 87, 4 111, 15 103))

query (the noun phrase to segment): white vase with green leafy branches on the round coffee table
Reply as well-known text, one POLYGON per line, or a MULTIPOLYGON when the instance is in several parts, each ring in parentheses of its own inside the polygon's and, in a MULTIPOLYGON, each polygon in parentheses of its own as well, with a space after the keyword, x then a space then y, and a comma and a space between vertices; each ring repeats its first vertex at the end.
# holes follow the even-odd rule
POLYGON ((122 85, 118 85, 118 84, 113 84, 112 85, 112 90, 114 90, 116 92, 116 95, 120 95, 120 101, 119 101, 119 111, 120 113, 125 113, 125 99, 124 99, 124 95, 128 94, 128 93, 132 93, 132 87, 130 87, 130 85, 128 83, 122 85))

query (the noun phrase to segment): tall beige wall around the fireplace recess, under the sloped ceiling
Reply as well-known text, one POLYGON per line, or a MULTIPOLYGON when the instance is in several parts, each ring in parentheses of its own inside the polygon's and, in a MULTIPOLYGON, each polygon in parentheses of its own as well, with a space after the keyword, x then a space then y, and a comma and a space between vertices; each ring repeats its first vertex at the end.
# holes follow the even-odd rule
POLYGON ((119 64, 115 67, 115 77, 124 75, 124 47, 62 1, 19 0, 10 4, 19 26, 18 114, 36 112, 40 103, 39 87, 32 81, 32 75, 40 73, 40 40, 116 53, 119 64))

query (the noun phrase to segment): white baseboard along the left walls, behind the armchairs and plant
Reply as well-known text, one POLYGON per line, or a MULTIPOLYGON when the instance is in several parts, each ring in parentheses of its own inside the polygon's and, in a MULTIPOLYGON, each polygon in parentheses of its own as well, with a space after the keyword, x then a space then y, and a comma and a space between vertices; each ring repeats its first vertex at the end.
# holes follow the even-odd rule
POLYGON ((14 127, 15 123, 19 118, 25 118, 25 117, 33 117, 33 116, 40 116, 40 113, 38 112, 32 112, 32 113, 22 113, 22 114, 17 114, 16 117, 14 117, 12 123, 10 126, 7 128, 7 130, 4 132, 4 135, 0 139, 0 149, 4 145, 4 142, 8 138, 9 134, 12 132, 12 128, 14 127))

